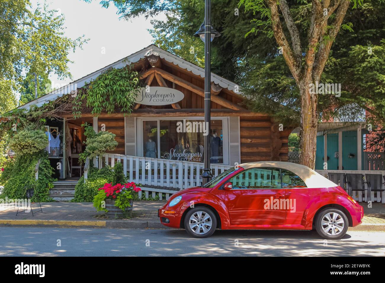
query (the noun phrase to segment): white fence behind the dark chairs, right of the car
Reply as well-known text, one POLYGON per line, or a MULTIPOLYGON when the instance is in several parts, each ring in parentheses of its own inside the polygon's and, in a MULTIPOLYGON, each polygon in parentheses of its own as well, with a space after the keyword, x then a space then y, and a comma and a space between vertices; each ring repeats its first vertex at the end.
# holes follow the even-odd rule
MULTIPOLYGON (((385 171, 372 171, 372 170, 316 170, 316 172, 318 172, 319 174, 321 174, 325 178, 330 179, 330 181, 338 184, 342 188, 344 186, 343 180, 344 180, 345 174, 363 174, 364 175, 363 181, 368 181, 366 179, 365 174, 378 174, 378 175, 381 175, 381 181, 380 181, 381 184, 384 182, 383 176, 385 175, 385 171), (330 173, 337 174, 337 179, 340 180, 340 182, 338 182, 338 180, 333 180, 332 178, 329 178, 330 173)), ((358 186, 362 186, 362 183, 358 184, 358 186)), ((373 184, 372 184, 372 186, 373 186, 373 184)), ((383 188, 383 186, 384 185, 382 185, 382 188, 383 188)), ((367 188, 368 188, 368 184, 365 184, 365 189, 367 189, 367 188)), ((367 191, 353 191, 352 193, 353 193, 353 198, 356 201, 361 202, 363 200, 366 201, 366 199, 367 199, 367 195, 366 195, 367 191)), ((371 199, 373 202, 385 203, 385 192, 373 192, 372 191, 371 199)))

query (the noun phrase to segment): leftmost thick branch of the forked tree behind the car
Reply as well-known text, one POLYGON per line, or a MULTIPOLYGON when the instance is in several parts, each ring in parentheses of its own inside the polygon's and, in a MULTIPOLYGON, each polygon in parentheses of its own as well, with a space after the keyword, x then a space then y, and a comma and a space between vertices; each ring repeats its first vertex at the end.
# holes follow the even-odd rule
POLYGON ((288 65, 291 74, 293 75, 296 83, 299 85, 300 82, 300 72, 301 65, 297 64, 297 60, 291 50, 291 47, 286 39, 285 33, 283 33, 283 29, 280 22, 280 15, 278 13, 278 6, 276 0, 267 0, 270 11, 271 11, 271 25, 274 32, 275 40, 278 45, 281 47, 283 58, 288 65))

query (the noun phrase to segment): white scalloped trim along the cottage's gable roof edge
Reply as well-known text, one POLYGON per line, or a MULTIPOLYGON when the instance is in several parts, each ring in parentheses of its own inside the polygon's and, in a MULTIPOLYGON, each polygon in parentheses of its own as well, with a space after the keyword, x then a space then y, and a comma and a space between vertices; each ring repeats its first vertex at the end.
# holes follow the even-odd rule
MULTIPOLYGON (((178 65, 182 69, 186 69, 189 72, 192 72, 195 75, 200 75, 202 78, 204 78, 204 69, 192 64, 191 62, 188 62, 181 57, 174 55, 164 49, 161 49, 160 47, 157 47, 154 44, 151 44, 147 46, 146 48, 135 52, 119 61, 116 61, 110 65, 107 65, 103 67, 102 69, 99 69, 89 75, 86 75, 78 80, 74 80, 73 82, 64 85, 63 87, 60 87, 60 89, 55 89, 52 92, 43 95, 42 97, 39 97, 38 99, 32 100, 26 104, 23 104, 18 109, 28 109, 32 105, 36 105, 38 107, 48 103, 49 101, 56 100, 58 97, 62 97, 65 94, 69 94, 72 90, 75 90, 77 88, 84 87, 84 85, 90 80, 96 79, 102 72, 109 68, 116 68, 121 69, 125 67, 126 65, 130 65, 132 63, 139 62, 139 60, 146 58, 146 56, 149 55, 156 55, 159 56, 161 59, 166 60, 167 62, 171 62, 174 65, 178 65)), ((234 82, 230 82, 229 80, 224 79, 223 77, 220 77, 219 75, 216 75, 214 73, 211 73, 211 82, 214 82, 215 84, 219 84, 223 88, 227 88, 228 90, 234 91, 234 88, 237 84, 234 82)), ((239 92, 238 92, 239 93, 239 92)))

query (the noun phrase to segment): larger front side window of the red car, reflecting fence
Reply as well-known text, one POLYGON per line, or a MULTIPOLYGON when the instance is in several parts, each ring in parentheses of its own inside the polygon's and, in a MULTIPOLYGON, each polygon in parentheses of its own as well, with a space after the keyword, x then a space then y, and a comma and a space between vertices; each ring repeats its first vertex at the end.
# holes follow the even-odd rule
POLYGON ((233 189, 276 189, 281 188, 280 169, 246 169, 229 180, 233 189))

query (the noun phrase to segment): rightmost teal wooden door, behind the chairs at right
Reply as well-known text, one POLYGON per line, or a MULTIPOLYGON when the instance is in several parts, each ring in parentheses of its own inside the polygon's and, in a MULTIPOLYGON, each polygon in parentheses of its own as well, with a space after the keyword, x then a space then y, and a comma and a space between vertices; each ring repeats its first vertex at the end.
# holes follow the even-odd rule
POLYGON ((344 170, 357 170, 356 131, 342 132, 342 167, 344 170))

